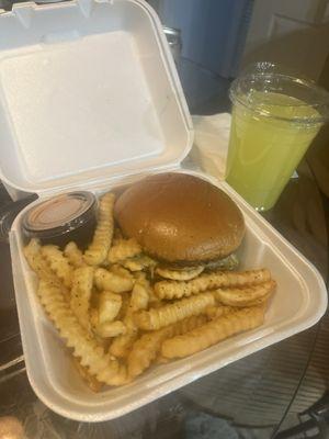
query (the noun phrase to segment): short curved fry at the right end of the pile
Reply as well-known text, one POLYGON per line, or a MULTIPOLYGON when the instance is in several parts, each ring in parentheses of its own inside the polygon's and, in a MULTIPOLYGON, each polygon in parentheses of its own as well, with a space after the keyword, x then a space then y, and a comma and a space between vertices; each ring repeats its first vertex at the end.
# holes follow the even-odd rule
POLYGON ((214 296, 224 305, 252 306, 254 301, 269 296, 274 291, 275 285, 275 281, 270 280, 259 285, 240 289, 218 289, 214 291, 214 296))

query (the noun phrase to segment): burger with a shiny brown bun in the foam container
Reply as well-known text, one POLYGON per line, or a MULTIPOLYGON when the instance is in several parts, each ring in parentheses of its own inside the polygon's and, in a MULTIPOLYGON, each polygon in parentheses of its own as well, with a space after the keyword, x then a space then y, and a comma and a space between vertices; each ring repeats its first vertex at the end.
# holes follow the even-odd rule
POLYGON ((186 173, 149 176, 126 189, 114 207, 127 238, 172 269, 232 269, 245 235, 236 203, 208 181, 186 173))

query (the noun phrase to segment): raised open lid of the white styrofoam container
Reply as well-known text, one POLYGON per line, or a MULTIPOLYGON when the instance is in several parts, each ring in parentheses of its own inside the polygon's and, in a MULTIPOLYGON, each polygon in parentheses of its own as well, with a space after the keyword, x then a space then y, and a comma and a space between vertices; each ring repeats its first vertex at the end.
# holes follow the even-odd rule
POLYGON ((192 124, 140 0, 18 4, 0 15, 1 178, 25 191, 178 164, 192 124))

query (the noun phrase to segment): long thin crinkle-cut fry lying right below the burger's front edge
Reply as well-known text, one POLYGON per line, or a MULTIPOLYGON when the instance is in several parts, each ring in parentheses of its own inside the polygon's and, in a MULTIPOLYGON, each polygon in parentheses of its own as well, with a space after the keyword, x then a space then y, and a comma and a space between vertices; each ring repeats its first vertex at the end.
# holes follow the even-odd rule
POLYGON ((270 279, 271 273, 266 269, 240 272, 217 271, 201 274, 185 282, 160 281, 155 284, 155 291, 160 299, 180 299, 218 288, 256 285, 270 279))

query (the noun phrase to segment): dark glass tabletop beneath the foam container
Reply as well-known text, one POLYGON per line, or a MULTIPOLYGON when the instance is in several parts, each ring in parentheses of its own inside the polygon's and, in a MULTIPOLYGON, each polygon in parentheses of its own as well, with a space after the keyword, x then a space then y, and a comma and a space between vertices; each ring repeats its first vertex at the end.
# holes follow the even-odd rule
MULTIPOLYGON (((0 207, 10 202, 0 192, 0 207)), ((328 275, 327 204, 304 161, 265 218, 328 275)), ((0 426, 14 416, 26 438, 271 438, 304 426, 328 389, 329 317, 129 415, 100 424, 65 419, 31 389, 15 312, 9 245, 0 241, 0 426), (284 432, 282 432, 284 431, 284 432)), ((1 430, 0 430, 1 434, 1 430)), ((0 436, 1 438, 1 436, 0 436)))

